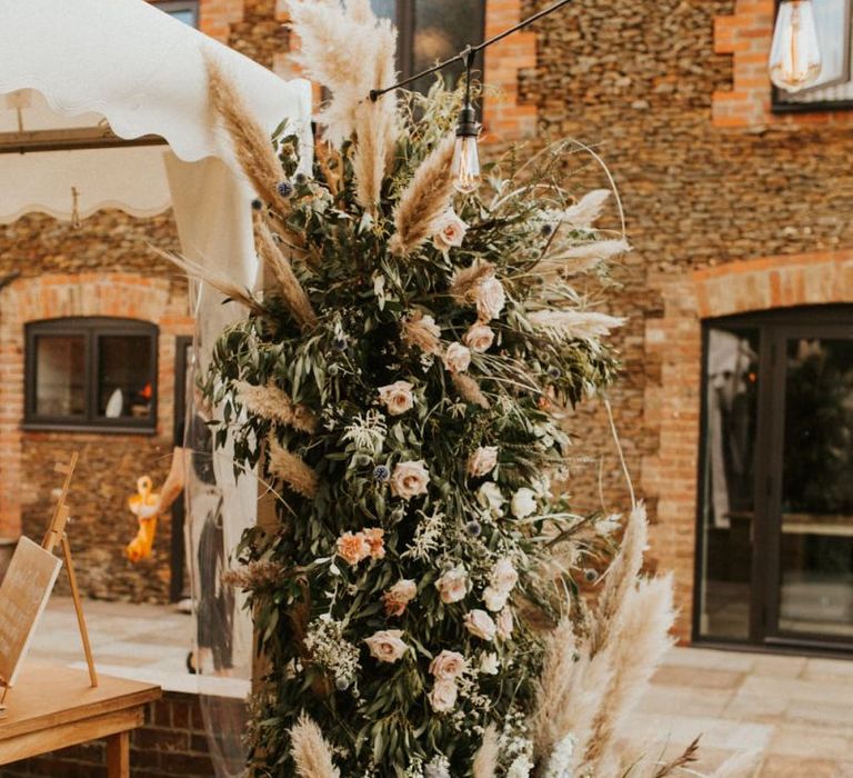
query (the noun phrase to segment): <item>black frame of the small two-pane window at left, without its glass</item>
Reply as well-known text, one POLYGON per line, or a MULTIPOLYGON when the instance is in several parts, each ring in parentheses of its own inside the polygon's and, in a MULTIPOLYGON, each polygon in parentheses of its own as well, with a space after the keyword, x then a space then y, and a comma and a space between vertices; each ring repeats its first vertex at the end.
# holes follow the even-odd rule
POLYGON ((67 317, 42 319, 24 325, 24 430, 59 432, 97 432, 155 435, 158 418, 158 343, 160 330, 157 325, 139 319, 113 317, 67 317), (40 416, 37 408, 37 341, 40 337, 78 336, 86 342, 84 397, 86 413, 76 419, 66 416, 40 416), (98 356, 99 339, 103 337, 144 337, 151 342, 151 411, 144 419, 107 419, 98 416, 98 356))

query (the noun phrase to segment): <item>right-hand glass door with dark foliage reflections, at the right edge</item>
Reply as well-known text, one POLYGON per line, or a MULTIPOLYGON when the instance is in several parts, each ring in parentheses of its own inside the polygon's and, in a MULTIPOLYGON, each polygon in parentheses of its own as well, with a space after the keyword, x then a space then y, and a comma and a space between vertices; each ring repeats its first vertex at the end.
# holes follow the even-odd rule
POLYGON ((853 327, 773 333, 769 642, 853 642, 853 327))

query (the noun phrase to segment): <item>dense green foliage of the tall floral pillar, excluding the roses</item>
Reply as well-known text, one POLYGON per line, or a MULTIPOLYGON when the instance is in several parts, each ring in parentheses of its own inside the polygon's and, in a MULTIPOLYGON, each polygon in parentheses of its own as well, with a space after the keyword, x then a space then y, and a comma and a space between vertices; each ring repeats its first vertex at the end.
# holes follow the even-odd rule
MULTIPOLYGON (((471 775, 490 724, 501 737, 499 775, 526 775, 519 765, 531 758, 526 717, 542 659, 529 615, 555 616, 554 581, 572 586, 571 572, 551 563, 545 539, 581 521, 551 497, 548 473, 570 445, 564 411, 610 382, 618 365, 601 338, 530 318, 585 309, 571 279, 544 272, 542 263, 558 245, 602 238, 590 226, 563 222, 575 199, 559 186, 555 154, 523 168, 510 154, 486 168, 476 194, 454 196, 452 207, 468 226, 461 246, 439 250, 425 242, 408 256, 389 250, 401 192, 452 131, 458 106, 459 96, 441 86, 408 99, 373 212, 357 202, 350 141, 340 151, 321 147, 312 174, 303 176, 297 137, 284 130, 275 138, 290 203, 277 218, 282 235, 301 239, 294 270, 318 321, 301 327, 271 285, 248 318, 223 332, 202 379, 223 412, 217 442, 231 436, 237 470, 258 466, 278 516, 274 528, 248 530, 240 549, 258 650, 269 668, 252 702, 258 776, 294 775, 290 731, 303 712, 320 726, 344 776, 471 775), (472 350, 464 371, 486 400, 478 403, 460 393, 442 355, 478 319, 470 302, 450 293, 454 280, 485 261, 506 303, 481 322, 494 342, 472 350), (432 317, 440 328, 438 350, 403 337, 405 322, 418 317, 432 317), (397 381, 411 385, 413 405, 392 415, 379 389, 397 381), (309 409, 314 431, 249 407, 247 385, 277 389, 309 409), (271 468, 264 456, 271 446, 311 468, 313 497, 297 493, 271 468), (498 462, 472 476, 469 461, 481 447, 496 448, 498 462), (401 462, 423 462, 425 493, 394 496, 389 478, 401 462), (486 482, 491 491, 481 489, 486 482), (535 501, 530 515, 514 509, 520 489, 535 501), (381 552, 349 563, 339 539, 367 528, 383 530, 381 552), (501 559, 519 573, 508 606, 512 630, 483 639, 464 619, 484 609, 501 559), (460 568, 464 596, 444 602, 436 581, 460 568), (417 594, 400 615, 389 615, 383 596, 401 580, 414 581, 417 594), (395 661, 368 650, 365 639, 382 630, 401 631, 407 650, 395 661), (436 711, 430 666, 443 650, 462 655, 465 669, 454 681, 453 706, 436 711)), ((282 249, 288 252, 287 241, 282 249)))

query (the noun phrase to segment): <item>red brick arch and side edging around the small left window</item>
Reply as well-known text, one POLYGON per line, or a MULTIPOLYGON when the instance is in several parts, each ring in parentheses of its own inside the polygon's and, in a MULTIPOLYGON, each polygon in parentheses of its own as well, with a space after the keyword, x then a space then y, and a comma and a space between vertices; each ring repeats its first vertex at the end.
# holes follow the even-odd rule
POLYGON ((150 321, 158 343, 158 436, 169 430, 174 397, 174 337, 193 330, 183 293, 169 280, 129 273, 46 275, 0 291, 0 537, 20 532, 24 325, 107 316, 150 321))

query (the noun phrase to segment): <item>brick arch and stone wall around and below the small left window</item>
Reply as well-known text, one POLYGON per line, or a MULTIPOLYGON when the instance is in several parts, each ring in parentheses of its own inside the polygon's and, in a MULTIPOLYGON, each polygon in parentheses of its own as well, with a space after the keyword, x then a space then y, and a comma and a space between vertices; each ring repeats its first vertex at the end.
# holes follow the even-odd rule
MULTIPOLYGON (((17 247, 17 245, 14 245, 17 247)), ((53 462, 80 453, 69 498, 69 530, 84 594, 168 601, 170 527, 161 519, 150 560, 131 565, 123 548, 136 535, 127 498, 148 473, 162 482, 172 450, 175 338, 192 332, 185 292, 168 278, 131 272, 64 272, 24 277, 0 291, 0 535, 40 537, 58 485, 53 462), (28 432, 23 418, 24 326, 78 316, 139 319, 159 327, 158 420, 154 436, 28 432)), ((66 586, 60 578, 60 590, 66 586)))

